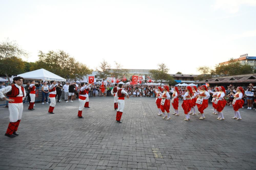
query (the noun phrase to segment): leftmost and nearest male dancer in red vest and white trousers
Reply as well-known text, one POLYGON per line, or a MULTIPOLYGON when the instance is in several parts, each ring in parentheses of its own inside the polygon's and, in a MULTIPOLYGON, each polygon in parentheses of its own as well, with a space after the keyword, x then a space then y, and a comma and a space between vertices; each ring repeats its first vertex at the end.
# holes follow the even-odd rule
POLYGON ((0 97, 9 101, 9 112, 10 112, 10 123, 5 133, 5 136, 14 138, 19 134, 16 133, 18 130, 19 122, 22 117, 23 111, 23 99, 26 97, 25 89, 22 87, 23 77, 14 77, 13 85, 7 86, 6 88, 0 89, 0 97), (7 93, 6 98, 4 94, 7 93))

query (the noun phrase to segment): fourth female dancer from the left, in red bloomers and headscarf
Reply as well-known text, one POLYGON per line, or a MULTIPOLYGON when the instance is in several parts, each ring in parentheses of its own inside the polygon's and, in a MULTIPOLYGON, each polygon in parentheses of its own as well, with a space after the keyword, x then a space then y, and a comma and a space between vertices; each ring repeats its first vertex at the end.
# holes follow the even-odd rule
POLYGON ((186 115, 186 120, 189 120, 189 111, 191 110, 191 108, 193 107, 193 103, 191 101, 192 95, 193 95, 193 91, 191 89, 190 86, 187 87, 187 89, 189 90, 189 92, 186 92, 183 95, 183 103, 182 103, 182 108, 184 110, 184 113, 186 115))

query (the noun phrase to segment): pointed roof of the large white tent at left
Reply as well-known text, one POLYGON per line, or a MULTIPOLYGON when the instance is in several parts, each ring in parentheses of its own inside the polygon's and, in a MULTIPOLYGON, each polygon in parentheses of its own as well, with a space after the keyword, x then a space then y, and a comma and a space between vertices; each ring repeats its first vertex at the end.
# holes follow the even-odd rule
POLYGON ((49 71, 47 71, 46 69, 37 69, 35 71, 32 72, 27 72, 27 73, 23 73, 23 74, 19 74, 17 76, 21 76, 25 79, 30 79, 30 80, 43 80, 43 81, 66 81, 65 78, 62 78, 56 74, 53 74, 49 71))

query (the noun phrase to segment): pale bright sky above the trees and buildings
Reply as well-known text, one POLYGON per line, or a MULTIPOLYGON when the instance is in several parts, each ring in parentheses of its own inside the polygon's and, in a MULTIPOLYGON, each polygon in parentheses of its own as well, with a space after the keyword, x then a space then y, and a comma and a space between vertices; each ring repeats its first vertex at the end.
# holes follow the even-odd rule
POLYGON ((199 74, 199 66, 256 56, 256 0, 0 0, 6 38, 38 60, 64 50, 89 68, 199 74))

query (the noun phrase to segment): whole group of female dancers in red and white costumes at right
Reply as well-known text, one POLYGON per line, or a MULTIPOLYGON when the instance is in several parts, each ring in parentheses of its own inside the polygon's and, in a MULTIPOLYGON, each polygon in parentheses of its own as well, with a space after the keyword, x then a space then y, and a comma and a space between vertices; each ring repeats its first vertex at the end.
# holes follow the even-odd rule
MULTIPOLYGON (((158 114, 157 115, 163 115, 163 119, 170 120, 170 103, 172 103, 172 106, 174 108, 174 115, 179 116, 179 89, 177 87, 173 88, 172 90, 169 90, 168 86, 163 86, 163 88, 158 87, 156 90, 156 105, 158 108, 158 114), (170 101, 170 94, 169 91, 172 94, 172 99, 170 101), (167 115, 165 113, 167 112, 167 115)), ((199 119, 203 120, 205 119, 204 116, 204 109, 208 107, 208 99, 210 98, 210 94, 212 93, 213 99, 213 110, 214 112, 212 114, 218 114, 218 120, 225 120, 222 110, 226 106, 226 100, 225 100, 225 94, 226 90, 223 86, 216 87, 215 92, 211 90, 207 90, 207 87, 205 85, 197 87, 188 86, 186 88, 186 93, 183 95, 183 103, 182 108, 184 110, 184 114, 186 118, 185 121, 189 121, 189 114, 196 115, 196 106, 198 108, 199 114, 201 114, 201 117, 199 119), (192 113, 193 109, 193 113, 192 113)), ((233 109, 234 109, 234 117, 232 119, 236 120, 242 120, 239 109, 243 106, 243 100, 242 96, 244 94, 243 88, 238 87, 236 90, 236 94, 234 95, 234 101, 232 103, 233 109)))

